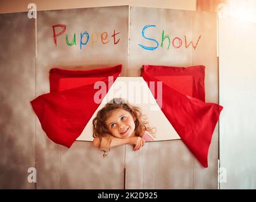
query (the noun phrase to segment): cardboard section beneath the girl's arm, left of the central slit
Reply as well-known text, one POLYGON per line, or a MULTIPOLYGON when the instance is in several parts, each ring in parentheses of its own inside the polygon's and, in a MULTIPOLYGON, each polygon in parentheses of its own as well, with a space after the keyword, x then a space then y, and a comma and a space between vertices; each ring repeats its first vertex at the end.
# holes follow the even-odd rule
POLYGON ((124 189, 124 152, 117 146, 103 157, 88 141, 61 148, 60 189, 124 189))

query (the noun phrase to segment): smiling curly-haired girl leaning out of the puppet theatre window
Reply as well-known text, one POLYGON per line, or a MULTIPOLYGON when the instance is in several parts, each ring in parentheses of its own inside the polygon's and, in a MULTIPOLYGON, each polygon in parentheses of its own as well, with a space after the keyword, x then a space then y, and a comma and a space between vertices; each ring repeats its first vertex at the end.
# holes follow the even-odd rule
POLYGON ((112 146, 130 144, 139 150, 145 141, 155 141, 153 128, 142 120, 139 107, 114 98, 93 119, 93 146, 106 152, 112 146), (152 136, 153 135, 153 136, 152 136))

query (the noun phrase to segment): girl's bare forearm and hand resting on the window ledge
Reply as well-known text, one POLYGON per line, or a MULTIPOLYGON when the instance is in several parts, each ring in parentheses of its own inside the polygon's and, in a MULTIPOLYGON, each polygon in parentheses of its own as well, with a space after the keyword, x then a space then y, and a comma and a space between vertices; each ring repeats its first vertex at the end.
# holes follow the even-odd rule
POLYGON ((134 151, 139 150, 144 145, 144 143, 145 141, 138 136, 125 138, 125 139, 115 138, 113 136, 111 138, 103 136, 101 142, 97 137, 94 138, 93 140, 93 146, 96 148, 99 148, 99 145, 101 148, 108 148, 112 146, 129 144, 129 145, 134 145, 134 151), (109 142, 110 142, 110 145, 109 145, 109 142))

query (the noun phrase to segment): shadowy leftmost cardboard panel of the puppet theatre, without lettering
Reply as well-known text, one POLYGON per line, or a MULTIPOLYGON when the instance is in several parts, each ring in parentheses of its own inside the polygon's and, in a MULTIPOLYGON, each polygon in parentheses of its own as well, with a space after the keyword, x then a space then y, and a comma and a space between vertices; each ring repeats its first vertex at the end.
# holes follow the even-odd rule
POLYGON ((0 189, 35 189, 34 23, 27 13, 0 15, 0 189))

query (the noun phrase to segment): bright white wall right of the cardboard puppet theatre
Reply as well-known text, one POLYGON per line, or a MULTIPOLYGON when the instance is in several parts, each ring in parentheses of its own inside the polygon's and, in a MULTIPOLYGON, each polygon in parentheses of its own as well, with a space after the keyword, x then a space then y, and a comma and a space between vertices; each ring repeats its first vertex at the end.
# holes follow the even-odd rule
POLYGON ((255 36, 256 23, 219 19, 221 189, 256 189, 255 36))

